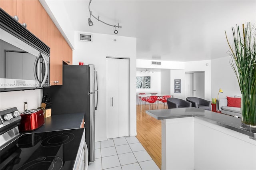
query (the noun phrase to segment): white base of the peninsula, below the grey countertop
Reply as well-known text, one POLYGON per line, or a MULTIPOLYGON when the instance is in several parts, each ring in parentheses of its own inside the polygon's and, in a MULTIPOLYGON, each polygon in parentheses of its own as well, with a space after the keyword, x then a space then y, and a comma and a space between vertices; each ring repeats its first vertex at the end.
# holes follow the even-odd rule
POLYGON ((162 170, 256 170, 256 140, 197 117, 163 119, 162 170))

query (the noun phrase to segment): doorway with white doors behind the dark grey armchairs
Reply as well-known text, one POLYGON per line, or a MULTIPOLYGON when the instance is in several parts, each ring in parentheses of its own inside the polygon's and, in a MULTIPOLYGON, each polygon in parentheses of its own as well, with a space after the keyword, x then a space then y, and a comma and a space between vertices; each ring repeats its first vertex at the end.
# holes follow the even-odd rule
POLYGON ((187 97, 204 99, 204 71, 185 73, 185 98, 187 97))

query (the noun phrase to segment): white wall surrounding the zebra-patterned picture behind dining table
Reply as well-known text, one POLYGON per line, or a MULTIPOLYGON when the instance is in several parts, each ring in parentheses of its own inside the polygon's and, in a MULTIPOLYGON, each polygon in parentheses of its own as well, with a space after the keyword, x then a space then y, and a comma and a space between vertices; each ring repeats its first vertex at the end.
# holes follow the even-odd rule
MULTIPOLYGON (((136 89, 136 94, 139 93, 161 93, 161 72, 154 71, 154 73, 150 72, 136 72, 136 76, 150 76, 150 89, 136 89)), ((138 97, 137 97, 137 104, 138 104, 138 97)))

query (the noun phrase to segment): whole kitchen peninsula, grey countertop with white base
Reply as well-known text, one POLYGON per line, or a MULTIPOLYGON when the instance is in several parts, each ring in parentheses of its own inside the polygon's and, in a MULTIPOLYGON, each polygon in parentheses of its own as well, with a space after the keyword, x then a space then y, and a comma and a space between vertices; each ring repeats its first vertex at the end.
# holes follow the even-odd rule
POLYGON ((150 110, 162 124, 162 170, 256 169, 256 130, 194 107, 150 110))

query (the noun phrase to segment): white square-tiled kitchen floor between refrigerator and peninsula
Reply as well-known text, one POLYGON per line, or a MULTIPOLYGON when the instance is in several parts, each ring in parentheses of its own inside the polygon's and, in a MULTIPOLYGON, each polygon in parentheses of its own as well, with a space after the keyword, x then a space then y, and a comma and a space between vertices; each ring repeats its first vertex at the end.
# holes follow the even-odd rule
POLYGON ((159 170, 136 137, 113 138, 95 146, 96 159, 88 170, 159 170))

